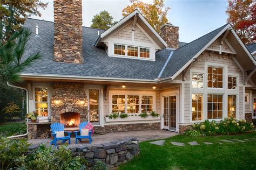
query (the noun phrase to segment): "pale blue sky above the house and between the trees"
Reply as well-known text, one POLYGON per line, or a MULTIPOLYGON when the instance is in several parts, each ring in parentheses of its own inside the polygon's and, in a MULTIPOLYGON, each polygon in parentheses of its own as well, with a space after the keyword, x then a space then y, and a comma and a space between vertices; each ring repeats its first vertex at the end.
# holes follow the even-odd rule
MULTIPOLYGON (((152 3, 153 0, 143 0, 152 3)), ((53 21, 53 0, 48 8, 40 9, 42 17, 31 18, 53 21)), ((94 15, 107 10, 114 18, 123 18, 122 10, 131 4, 130 0, 83 0, 83 26, 90 26, 94 15)), ((193 41, 204 34, 226 24, 227 8, 226 0, 166 0, 165 6, 170 6, 168 20, 173 25, 179 26, 179 40, 183 42, 193 41)))

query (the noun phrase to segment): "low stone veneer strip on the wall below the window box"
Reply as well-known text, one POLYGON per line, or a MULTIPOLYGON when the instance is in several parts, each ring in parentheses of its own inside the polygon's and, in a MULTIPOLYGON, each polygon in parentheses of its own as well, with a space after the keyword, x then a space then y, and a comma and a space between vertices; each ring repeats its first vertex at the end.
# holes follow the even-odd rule
POLYGON ((160 129, 159 123, 134 123, 134 124, 115 124, 115 125, 104 125, 95 126, 95 132, 97 130, 104 130, 105 132, 125 132, 125 131, 137 131, 137 130, 154 130, 160 129))

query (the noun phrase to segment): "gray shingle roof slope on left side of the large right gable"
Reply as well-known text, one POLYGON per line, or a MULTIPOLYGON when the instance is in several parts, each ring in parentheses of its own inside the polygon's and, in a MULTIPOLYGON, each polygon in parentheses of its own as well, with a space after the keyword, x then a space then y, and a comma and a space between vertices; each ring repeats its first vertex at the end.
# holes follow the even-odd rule
POLYGON ((161 75, 161 79, 171 77, 177 73, 178 70, 183 67, 189 60, 191 60, 193 56, 196 55, 209 41, 217 36, 217 34, 223 30, 226 25, 227 24, 176 49, 173 52, 172 57, 168 62, 163 74, 161 75))

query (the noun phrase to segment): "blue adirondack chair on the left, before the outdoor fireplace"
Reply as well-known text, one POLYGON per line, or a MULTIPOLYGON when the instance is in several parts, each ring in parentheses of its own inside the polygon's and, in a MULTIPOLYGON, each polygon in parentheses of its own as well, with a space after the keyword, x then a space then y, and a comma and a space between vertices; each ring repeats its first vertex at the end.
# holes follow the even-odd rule
POLYGON ((62 140, 62 143, 64 144, 65 141, 69 140, 69 144, 70 144, 70 134, 71 132, 65 132, 64 131, 64 124, 61 124, 61 123, 52 123, 51 124, 51 130, 52 130, 52 135, 54 137, 54 139, 51 141, 51 145, 55 144, 55 146, 57 146, 57 141, 58 140, 62 140), (58 131, 64 131, 64 133, 68 133, 68 136, 65 136, 65 137, 61 137, 61 138, 57 138, 56 137, 56 133, 55 132, 58 132, 58 131))

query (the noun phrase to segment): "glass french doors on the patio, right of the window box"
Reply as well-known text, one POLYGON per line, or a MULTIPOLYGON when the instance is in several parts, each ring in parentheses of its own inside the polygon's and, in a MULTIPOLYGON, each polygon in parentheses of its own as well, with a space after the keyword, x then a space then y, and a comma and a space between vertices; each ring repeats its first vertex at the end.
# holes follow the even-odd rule
POLYGON ((163 97, 163 123, 164 129, 177 131, 176 116, 177 116, 177 97, 164 96, 163 97))

